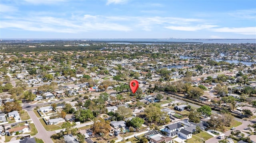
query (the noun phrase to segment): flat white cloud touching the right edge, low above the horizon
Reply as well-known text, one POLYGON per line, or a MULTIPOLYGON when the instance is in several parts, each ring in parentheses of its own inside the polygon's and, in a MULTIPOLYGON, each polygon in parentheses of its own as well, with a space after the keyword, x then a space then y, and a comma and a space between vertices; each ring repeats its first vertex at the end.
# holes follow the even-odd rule
POLYGON ((243 35, 256 35, 256 27, 222 27, 211 29, 214 32, 230 32, 243 35))

